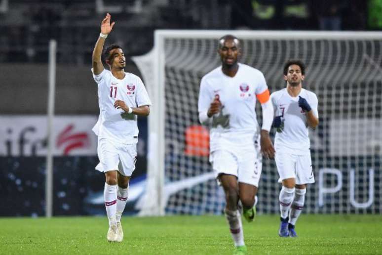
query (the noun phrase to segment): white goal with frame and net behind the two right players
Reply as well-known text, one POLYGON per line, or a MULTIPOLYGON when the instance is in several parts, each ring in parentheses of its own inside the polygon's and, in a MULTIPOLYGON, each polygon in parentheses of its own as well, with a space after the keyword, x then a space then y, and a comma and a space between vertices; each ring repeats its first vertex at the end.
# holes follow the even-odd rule
MULTIPOLYGON (((223 212, 197 98, 203 75, 220 65, 225 34, 241 40, 240 62, 261 70, 271 92, 286 86, 287 60, 306 63, 303 86, 317 94, 320 124, 309 131, 316 182, 304 212, 381 213, 382 33, 159 30, 152 52, 133 58, 153 101, 140 214, 223 212)), ((274 160, 263 160, 259 213, 279 212, 277 179, 274 160)))

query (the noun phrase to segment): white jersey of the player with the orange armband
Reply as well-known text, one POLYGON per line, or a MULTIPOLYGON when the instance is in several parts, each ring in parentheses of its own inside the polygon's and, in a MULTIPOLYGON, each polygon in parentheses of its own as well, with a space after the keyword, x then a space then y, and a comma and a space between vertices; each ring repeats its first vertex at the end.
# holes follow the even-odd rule
POLYGON ((206 74, 200 82, 198 112, 208 111, 215 95, 222 103, 212 117, 210 151, 227 149, 232 143, 254 144, 260 134, 256 118, 256 95, 267 90, 259 70, 239 63, 234 77, 225 75, 222 66, 206 74))

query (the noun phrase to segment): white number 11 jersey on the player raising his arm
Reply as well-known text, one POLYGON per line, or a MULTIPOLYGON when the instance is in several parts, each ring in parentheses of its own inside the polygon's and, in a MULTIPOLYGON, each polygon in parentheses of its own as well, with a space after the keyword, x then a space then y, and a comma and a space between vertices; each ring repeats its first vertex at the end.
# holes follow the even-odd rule
MULTIPOLYGON (((93 69, 92 69, 93 72, 93 69)), ((109 70, 104 69, 94 75, 98 85, 98 104, 100 116, 93 131, 99 138, 107 138, 114 142, 134 144, 138 142, 137 116, 127 114, 114 107, 115 100, 122 100, 129 107, 151 105, 149 95, 141 79, 133 74, 125 73, 122 80, 115 78, 109 70)))

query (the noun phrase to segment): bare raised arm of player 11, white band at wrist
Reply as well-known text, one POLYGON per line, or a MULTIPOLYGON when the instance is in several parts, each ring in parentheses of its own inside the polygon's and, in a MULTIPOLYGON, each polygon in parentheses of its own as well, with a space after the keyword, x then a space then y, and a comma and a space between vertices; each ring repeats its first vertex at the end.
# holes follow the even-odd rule
POLYGON ((104 48, 105 39, 108 37, 109 33, 112 32, 115 22, 110 24, 110 14, 107 13, 105 18, 101 22, 101 34, 98 38, 96 45, 93 50, 93 73, 98 75, 104 70, 102 65, 101 55, 104 48))

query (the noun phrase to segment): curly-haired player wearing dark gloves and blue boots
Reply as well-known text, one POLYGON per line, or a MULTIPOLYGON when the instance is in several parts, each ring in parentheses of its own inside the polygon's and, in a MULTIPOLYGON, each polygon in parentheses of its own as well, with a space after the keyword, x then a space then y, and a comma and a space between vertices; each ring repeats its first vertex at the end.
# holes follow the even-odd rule
POLYGON ((281 237, 297 237, 295 224, 304 207, 306 185, 314 183, 308 127, 318 125, 317 96, 302 88, 305 65, 299 60, 284 65, 286 88, 270 98, 275 110, 275 161, 282 188, 279 195, 281 237))

